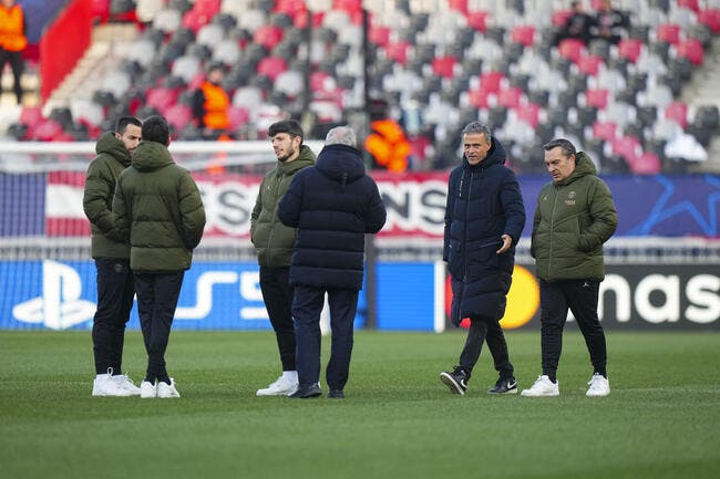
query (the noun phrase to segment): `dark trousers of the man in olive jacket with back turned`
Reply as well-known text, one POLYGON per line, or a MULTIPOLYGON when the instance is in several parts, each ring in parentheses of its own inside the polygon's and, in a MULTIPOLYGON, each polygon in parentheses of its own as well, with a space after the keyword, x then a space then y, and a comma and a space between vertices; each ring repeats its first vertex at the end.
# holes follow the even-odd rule
POLYGON ((137 314, 147 352, 145 381, 167 381, 165 351, 185 271, 135 273, 137 314))

